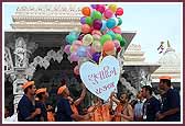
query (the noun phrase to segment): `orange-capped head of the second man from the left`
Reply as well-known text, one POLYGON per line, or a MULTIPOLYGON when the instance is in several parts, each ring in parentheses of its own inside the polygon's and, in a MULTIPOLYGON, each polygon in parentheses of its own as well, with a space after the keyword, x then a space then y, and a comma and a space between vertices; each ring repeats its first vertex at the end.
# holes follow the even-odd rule
POLYGON ((36 96, 40 100, 46 100, 48 98, 48 93, 46 91, 46 88, 41 88, 36 90, 36 96))

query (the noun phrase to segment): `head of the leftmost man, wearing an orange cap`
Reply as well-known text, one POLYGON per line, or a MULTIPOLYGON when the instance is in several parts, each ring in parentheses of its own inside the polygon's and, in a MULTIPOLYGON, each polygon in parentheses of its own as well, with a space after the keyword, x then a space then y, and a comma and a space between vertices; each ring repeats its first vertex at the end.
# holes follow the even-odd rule
POLYGON ((30 95, 34 95, 36 88, 34 85, 34 81, 28 81, 22 85, 24 93, 25 94, 30 94, 30 95))

